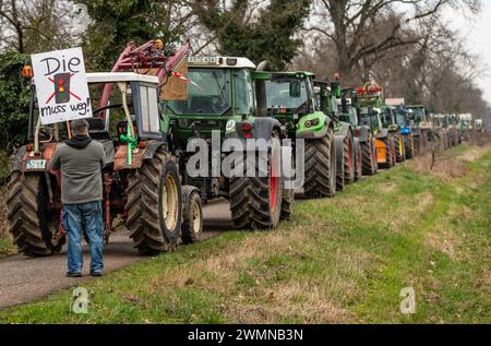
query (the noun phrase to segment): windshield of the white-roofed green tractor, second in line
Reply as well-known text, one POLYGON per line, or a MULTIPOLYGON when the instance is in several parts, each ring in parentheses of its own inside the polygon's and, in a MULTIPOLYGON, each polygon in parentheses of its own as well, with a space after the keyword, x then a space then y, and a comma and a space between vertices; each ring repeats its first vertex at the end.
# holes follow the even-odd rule
POLYGON ((168 102, 171 112, 223 116, 231 109, 230 70, 190 69, 188 100, 168 102))

